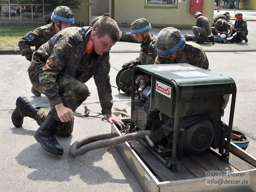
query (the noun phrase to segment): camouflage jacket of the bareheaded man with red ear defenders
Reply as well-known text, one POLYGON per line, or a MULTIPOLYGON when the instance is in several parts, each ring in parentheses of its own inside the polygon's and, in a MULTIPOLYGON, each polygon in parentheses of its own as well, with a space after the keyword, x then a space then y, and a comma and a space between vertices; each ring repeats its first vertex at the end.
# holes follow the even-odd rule
POLYGON ((92 27, 69 27, 61 30, 34 54, 28 70, 40 70, 40 86, 51 106, 62 103, 56 79, 60 73, 86 83, 92 76, 97 86, 102 111, 111 114, 113 105, 110 77, 109 52, 101 56, 92 51, 84 52, 84 42, 88 42, 92 27))

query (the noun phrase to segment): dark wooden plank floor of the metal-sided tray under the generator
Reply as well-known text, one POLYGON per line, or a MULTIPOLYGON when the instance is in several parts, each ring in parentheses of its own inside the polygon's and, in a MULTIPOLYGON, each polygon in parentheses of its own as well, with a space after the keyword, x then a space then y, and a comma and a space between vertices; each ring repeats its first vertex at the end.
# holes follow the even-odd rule
POLYGON ((159 181, 174 181, 205 177, 207 172, 228 173, 255 169, 239 157, 230 153, 229 163, 223 162, 210 150, 200 154, 183 154, 183 159, 177 161, 177 172, 167 168, 137 140, 129 141, 132 148, 143 162, 155 174, 159 181))

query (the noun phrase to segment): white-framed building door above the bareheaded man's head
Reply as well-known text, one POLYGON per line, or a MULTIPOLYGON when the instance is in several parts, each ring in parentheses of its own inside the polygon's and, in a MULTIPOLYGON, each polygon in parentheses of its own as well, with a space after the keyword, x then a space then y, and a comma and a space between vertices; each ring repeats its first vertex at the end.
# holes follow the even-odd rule
POLYGON ((89 0, 89 23, 106 12, 111 15, 111 0, 89 0))

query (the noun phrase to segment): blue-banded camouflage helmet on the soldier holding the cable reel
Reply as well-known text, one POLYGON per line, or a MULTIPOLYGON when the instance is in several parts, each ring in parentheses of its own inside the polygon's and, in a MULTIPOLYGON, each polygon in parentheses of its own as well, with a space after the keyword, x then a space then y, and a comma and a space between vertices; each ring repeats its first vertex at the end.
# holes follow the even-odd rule
POLYGON ((151 30, 151 25, 148 20, 144 18, 136 19, 132 21, 131 33, 147 33, 151 30))

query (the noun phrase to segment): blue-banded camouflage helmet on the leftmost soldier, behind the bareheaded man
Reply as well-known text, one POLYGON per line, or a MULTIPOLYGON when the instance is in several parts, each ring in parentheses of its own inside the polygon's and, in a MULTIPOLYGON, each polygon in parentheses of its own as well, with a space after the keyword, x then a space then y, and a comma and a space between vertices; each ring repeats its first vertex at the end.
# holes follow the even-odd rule
POLYGON ((67 6, 56 7, 52 12, 51 20, 53 22, 64 22, 70 24, 75 22, 74 13, 67 6))

